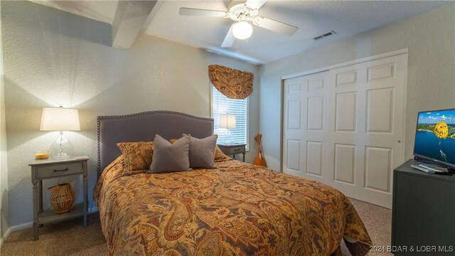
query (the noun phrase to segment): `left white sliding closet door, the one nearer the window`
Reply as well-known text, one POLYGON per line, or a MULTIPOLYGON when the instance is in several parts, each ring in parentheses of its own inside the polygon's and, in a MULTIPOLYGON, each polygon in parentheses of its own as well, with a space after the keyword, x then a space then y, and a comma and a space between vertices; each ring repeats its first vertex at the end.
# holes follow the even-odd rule
POLYGON ((328 72, 284 81, 283 172, 323 182, 328 72))

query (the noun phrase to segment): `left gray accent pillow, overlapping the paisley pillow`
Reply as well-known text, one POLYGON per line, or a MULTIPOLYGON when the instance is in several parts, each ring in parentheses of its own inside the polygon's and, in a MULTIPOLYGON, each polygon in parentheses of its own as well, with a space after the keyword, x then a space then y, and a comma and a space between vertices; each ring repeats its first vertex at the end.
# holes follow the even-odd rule
POLYGON ((160 174, 174 171, 188 171, 190 169, 188 158, 190 138, 191 136, 186 135, 171 144, 171 142, 156 134, 153 161, 147 173, 160 174))

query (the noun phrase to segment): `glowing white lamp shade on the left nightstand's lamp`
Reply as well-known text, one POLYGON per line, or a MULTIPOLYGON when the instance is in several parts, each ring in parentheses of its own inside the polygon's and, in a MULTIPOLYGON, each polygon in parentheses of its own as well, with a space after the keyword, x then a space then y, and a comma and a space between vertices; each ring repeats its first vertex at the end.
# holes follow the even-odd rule
POLYGON ((63 107, 44 107, 40 131, 80 131, 79 112, 63 107))

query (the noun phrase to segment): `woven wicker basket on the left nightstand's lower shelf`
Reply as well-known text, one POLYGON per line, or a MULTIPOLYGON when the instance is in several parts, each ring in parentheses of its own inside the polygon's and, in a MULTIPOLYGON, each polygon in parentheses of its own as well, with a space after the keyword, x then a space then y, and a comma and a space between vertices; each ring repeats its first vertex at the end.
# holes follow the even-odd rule
POLYGON ((50 196, 50 206, 54 209, 55 213, 66 213, 73 206, 75 193, 69 183, 58 184, 48 188, 48 191, 52 190, 52 196, 50 196))

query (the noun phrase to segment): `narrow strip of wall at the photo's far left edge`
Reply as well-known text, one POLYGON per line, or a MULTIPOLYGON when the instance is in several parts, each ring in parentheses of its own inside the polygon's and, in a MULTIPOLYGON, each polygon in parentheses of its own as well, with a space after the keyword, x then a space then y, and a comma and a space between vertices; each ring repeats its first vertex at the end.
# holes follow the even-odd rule
POLYGON ((6 119, 4 97, 3 47, 1 40, 0 6, 0 238, 3 238, 8 224, 8 162, 6 159, 6 119))

